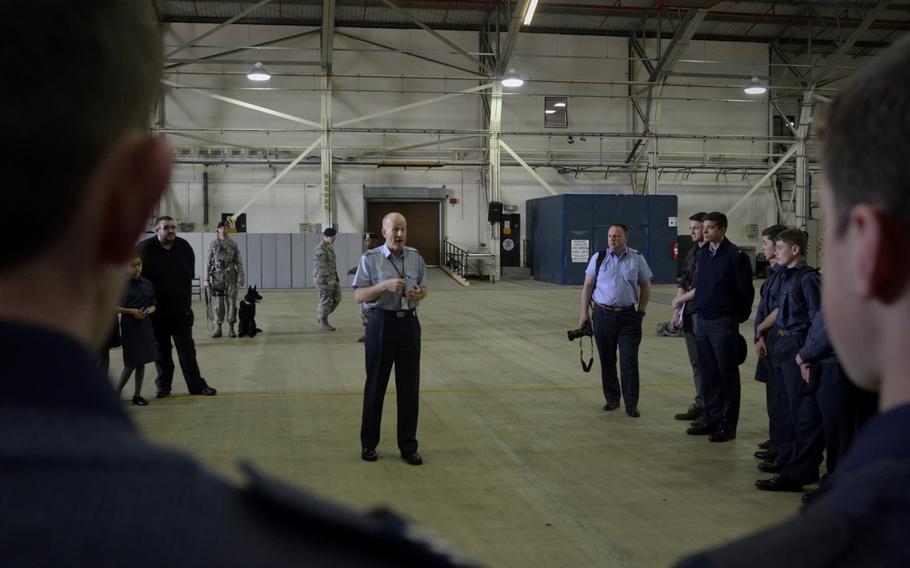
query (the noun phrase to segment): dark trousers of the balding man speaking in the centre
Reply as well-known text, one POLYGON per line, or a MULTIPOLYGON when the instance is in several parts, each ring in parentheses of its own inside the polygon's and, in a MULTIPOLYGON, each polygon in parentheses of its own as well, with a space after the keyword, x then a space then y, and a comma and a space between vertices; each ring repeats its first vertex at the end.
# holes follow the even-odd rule
POLYGON ((402 453, 417 451, 420 322, 416 313, 405 314, 405 317, 396 317, 396 312, 373 310, 370 321, 367 322, 367 379, 363 392, 363 418, 360 426, 360 444, 364 448, 375 448, 379 445, 382 403, 394 365, 398 403, 398 449, 402 453))

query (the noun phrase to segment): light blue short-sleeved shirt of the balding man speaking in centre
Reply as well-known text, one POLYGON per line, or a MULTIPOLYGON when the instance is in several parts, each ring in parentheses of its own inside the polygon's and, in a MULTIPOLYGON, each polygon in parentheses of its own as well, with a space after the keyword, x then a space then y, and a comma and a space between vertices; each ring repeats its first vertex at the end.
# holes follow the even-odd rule
POLYGON ((357 275, 354 276, 354 288, 369 288, 385 280, 404 278, 405 286, 401 292, 383 292, 372 302, 364 302, 364 308, 376 310, 416 310, 420 300, 408 300, 404 297, 415 285, 427 287, 427 265, 417 249, 404 247, 401 257, 396 257, 389 247, 382 245, 370 249, 360 257, 357 275))

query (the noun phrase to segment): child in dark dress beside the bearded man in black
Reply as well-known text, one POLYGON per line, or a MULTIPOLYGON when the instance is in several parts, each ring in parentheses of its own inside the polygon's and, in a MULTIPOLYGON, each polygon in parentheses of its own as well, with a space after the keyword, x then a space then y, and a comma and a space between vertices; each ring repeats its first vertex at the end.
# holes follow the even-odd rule
POLYGON ((147 406, 142 398, 142 379, 145 364, 158 360, 158 344, 152 320, 148 317, 155 312, 155 289, 152 283, 142 277, 142 257, 134 254, 130 260, 130 279, 126 284, 122 305, 117 308, 120 315, 120 335, 123 342, 123 373, 117 385, 117 393, 123 391, 133 371, 136 371, 136 389, 133 404, 147 406))

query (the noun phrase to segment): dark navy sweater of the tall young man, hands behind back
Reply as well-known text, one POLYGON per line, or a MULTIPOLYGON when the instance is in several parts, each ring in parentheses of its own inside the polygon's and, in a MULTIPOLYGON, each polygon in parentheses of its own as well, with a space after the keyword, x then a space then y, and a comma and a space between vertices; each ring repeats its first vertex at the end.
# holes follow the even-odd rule
POLYGON ((749 257, 726 239, 713 257, 710 245, 699 255, 694 300, 698 318, 733 317, 740 323, 749 319, 755 298, 749 257))

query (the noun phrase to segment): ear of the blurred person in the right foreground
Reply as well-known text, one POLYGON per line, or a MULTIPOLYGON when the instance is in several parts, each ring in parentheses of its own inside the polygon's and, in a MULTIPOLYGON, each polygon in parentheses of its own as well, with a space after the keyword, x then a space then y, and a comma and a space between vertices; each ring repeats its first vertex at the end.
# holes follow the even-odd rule
POLYGON ((910 285, 910 265, 896 262, 910 246, 903 224, 893 215, 858 205, 850 212, 847 238, 857 259, 858 292, 884 304, 896 301, 910 285))

